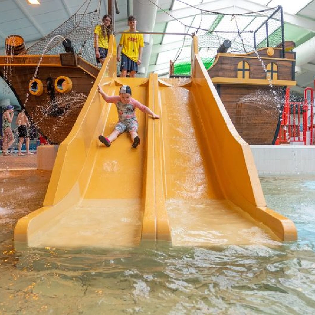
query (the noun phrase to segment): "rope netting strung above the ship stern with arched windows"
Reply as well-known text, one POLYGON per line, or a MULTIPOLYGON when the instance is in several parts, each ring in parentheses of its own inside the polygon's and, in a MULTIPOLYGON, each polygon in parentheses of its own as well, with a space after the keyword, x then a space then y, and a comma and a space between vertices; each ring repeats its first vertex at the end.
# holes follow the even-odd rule
MULTIPOLYGON (((225 40, 231 41, 229 53, 244 54, 263 47, 282 47, 284 38, 282 7, 244 14, 222 14, 200 10, 187 25, 187 18, 176 20, 185 33, 198 35, 199 55, 208 69, 217 49, 225 40)), ((171 61, 170 75, 190 76, 191 38, 185 36, 182 47, 171 61)))

